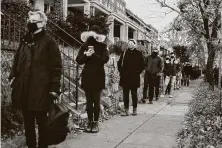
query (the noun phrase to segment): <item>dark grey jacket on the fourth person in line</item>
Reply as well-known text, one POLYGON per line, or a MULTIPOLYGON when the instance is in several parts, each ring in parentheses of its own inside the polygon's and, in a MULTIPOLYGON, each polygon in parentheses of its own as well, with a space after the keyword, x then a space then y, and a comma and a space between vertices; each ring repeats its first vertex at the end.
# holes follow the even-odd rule
POLYGON ((164 68, 164 63, 161 57, 153 57, 152 55, 148 56, 145 59, 145 64, 146 64, 146 71, 151 74, 156 76, 158 73, 162 73, 163 68, 164 68))

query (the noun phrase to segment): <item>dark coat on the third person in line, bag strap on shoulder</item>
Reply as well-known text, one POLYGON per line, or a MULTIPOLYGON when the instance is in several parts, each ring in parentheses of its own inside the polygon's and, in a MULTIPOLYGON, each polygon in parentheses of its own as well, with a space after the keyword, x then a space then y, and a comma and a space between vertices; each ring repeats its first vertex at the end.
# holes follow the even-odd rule
POLYGON ((117 65, 120 73, 120 86, 125 88, 140 87, 140 74, 145 67, 140 51, 136 49, 123 51, 117 65))

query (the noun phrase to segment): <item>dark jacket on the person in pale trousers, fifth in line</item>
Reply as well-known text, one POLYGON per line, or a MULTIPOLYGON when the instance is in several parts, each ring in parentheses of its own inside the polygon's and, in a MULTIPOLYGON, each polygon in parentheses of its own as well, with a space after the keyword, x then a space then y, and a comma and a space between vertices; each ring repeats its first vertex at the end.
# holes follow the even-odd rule
POLYGON ((164 70, 163 73, 166 76, 176 76, 176 74, 179 72, 179 64, 175 59, 166 60, 164 64, 164 70))

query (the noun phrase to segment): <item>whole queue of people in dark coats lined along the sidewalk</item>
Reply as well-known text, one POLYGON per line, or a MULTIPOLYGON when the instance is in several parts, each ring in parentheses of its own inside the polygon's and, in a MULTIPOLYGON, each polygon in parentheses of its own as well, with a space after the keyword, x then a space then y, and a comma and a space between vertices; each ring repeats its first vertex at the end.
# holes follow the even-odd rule
MULTIPOLYGON (((29 12, 28 34, 22 39, 14 57, 9 80, 12 83, 12 103, 22 110, 24 117, 26 144, 28 148, 47 148, 47 112, 50 103, 60 94, 62 60, 55 40, 45 31, 47 17, 42 11, 29 12), (35 133, 38 124, 38 144, 35 133)), ((92 26, 81 34, 84 42, 76 57, 76 62, 84 65, 81 87, 86 95, 88 123, 86 132, 99 132, 100 95, 105 89, 104 65, 109 61, 109 52, 104 43, 106 36, 101 28, 92 26)), ((129 94, 132 95, 132 115, 137 115, 140 75, 145 70, 142 102, 158 100, 169 93, 173 97, 175 89, 189 86, 192 77, 190 63, 181 64, 172 52, 166 58, 157 49, 143 57, 137 50, 137 41, 130 39, 128 48, 122 51, 118 61, 119 85, 123 88, 124 111, 129 116, 129 94), (164 81, 160 88, 161 80, 164 81), (147 95, 148 91, 148 95, 147 95)))

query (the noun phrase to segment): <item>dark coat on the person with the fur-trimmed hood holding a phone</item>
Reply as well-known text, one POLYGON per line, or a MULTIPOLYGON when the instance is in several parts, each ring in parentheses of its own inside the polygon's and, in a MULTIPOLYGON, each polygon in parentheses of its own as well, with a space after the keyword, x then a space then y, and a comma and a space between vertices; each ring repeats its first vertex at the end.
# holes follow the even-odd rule
POLYGON ((79 50, 76 62, 80 65, 85 64, 82 71, 81 87, 84 90, 100 91, 105 89, 105 70, 104 64, 109 61, 109 53, 104 43, 94 44, 85 43, 79 50), (84 52, 88 46, 94 46, 95 53, 87 57, 84 52))

